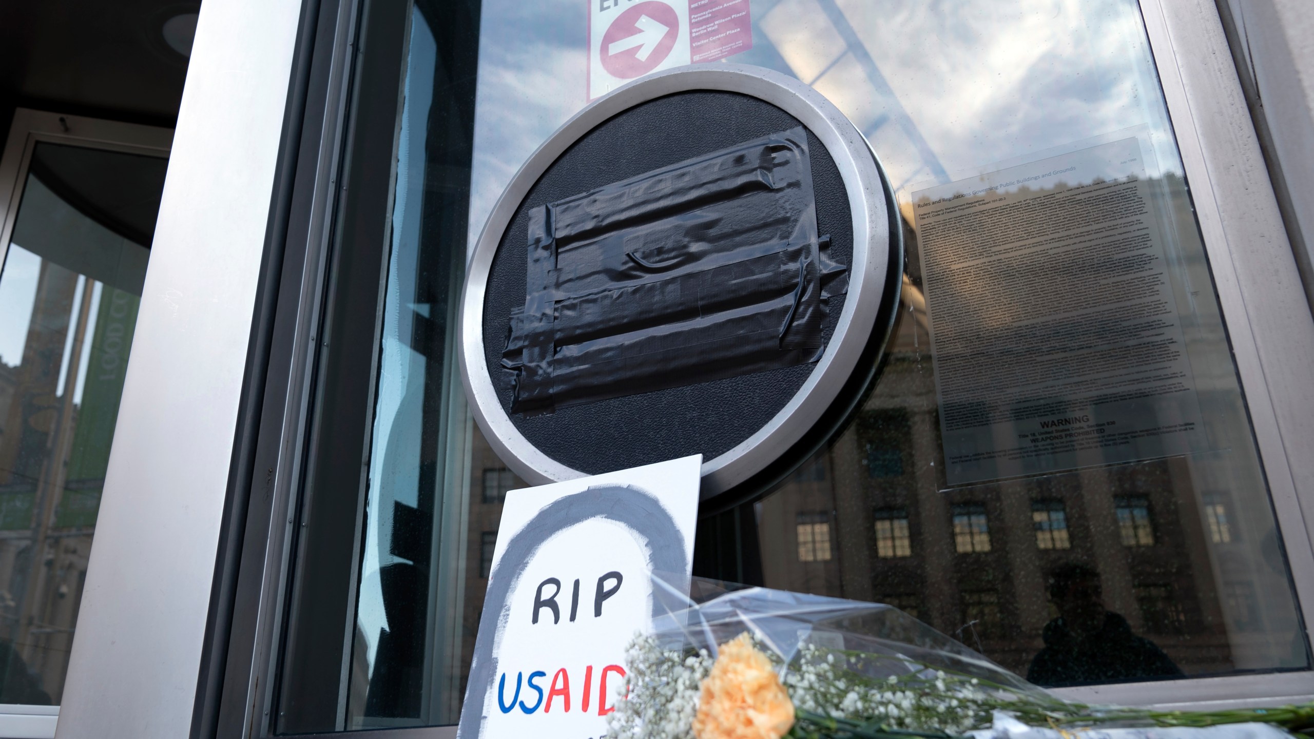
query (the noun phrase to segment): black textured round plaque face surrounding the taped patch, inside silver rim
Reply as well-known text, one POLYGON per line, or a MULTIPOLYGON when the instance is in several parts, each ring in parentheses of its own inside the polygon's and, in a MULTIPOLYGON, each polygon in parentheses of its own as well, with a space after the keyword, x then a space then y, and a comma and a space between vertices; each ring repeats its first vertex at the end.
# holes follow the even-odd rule
MULTIPOLYGON (((627 178, 799 126, 774 105, 731 92, 682 92, 644 103, 576 142, 530 189, 503 234, 484 305, 485 360, 498 398, 520 433, 574 469, 600 473, 703 454, 712 459, 765 426, 798 392, 815 363, 653 392, 610 397, 552 413, 511 413, 515 372, 502 352, 512 312, 526 301, 530 210, 627 178)), ((811 131, 816 225, 829 256, 851 267, 853 220, 840 171, 811 131)), ((830 298, 823 325, 829 343, 844 308, 830 298)))

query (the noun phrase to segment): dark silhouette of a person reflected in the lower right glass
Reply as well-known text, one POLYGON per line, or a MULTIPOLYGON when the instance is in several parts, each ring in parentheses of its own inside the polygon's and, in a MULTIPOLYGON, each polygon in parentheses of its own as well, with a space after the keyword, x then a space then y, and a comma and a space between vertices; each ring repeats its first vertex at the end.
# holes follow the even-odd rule
POLYGON ((1050 573, 1049 589, 1059 617, 1045 625, 1045 648, 1031 659, 1029 681, 1062 688, 1181 676, 1158 644, 1133 634, 1126 618, 1104 608, 1095 569, 1064 564, 1050 573))

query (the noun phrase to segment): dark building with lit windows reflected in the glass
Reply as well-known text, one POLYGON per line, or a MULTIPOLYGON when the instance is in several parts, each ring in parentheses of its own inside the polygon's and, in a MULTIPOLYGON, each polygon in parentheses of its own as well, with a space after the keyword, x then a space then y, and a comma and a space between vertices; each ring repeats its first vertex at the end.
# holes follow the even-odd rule
MULTIPOLYGON (((767 586, 899 606, 1026 675, 1058 615, 1047 579, 1080 563, 1108 610, 1187 675, 1303 664, 1296 625, 1261 596, 1285 586, 1271 514, 1229 492, 1246 485, 1217 463, 1226 451, 949 488, 915 279, 900 308, 859 416, 756 506, 767 586)), ((1206 412, 1226 380, 1197 367, 1206 412)))

